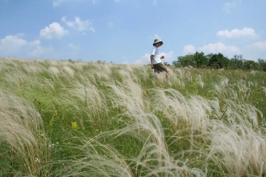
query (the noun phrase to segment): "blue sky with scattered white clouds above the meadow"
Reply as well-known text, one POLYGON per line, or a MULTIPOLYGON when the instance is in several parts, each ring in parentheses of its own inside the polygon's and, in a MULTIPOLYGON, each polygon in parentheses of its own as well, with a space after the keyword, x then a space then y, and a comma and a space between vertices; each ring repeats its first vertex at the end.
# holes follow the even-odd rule
POLYGON ((172 63, 195 50, 266 59, 265 0, 0 0, 0 56, 172 63))

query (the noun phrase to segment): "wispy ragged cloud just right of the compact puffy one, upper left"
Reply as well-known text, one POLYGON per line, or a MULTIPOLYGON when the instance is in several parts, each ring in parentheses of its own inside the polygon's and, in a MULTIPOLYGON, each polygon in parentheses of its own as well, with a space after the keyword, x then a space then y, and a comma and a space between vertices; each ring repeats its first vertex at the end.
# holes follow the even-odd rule
POLYGON ((66 16, 64 16, 61 18, 61 21, 78 31, 90 30, 91 32, 95 32, 95 29, 91 27, 92 22, 90 22, 90 20, 82 21, 80 17, 75 17, 75 21, 67 21, 66 16))

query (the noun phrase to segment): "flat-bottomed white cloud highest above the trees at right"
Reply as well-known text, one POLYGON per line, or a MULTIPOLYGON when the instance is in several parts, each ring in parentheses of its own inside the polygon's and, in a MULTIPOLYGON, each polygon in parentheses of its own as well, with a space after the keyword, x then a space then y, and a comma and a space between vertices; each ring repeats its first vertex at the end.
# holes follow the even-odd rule
POLYGON ((216 33, 216 36, 226 37, 226 38, 238 38, 238 37, 256 37, 257 34, 255 33, 254 29, 244 27, 242 30, 233 29, 231 31, 229 30, 218 31, 216 33))

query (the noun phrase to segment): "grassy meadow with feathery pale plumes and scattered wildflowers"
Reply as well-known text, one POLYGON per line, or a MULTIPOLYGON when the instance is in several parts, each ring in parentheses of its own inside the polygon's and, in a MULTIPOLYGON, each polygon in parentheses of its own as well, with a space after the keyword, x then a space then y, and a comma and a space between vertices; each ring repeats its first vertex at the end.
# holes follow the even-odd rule
POLYGON ((0 59, 0 176, 266 176, 266 73, 0 59))

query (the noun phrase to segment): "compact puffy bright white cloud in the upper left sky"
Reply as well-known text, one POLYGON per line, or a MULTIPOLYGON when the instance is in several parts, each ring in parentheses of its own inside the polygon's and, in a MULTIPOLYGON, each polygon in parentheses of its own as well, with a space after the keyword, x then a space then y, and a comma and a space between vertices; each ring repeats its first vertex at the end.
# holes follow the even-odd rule
POLYGON ((44 29, 40 30, 40 36, 46 39, 51 39, 51 38, 60 39, 64 35, 69 35, 69 31, 64 30, 64 27, 62 27, 57 22, 53 22, 49 24, 49 27, 46 26, 44 29))

